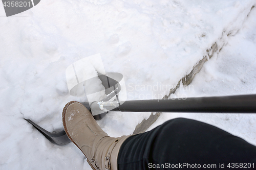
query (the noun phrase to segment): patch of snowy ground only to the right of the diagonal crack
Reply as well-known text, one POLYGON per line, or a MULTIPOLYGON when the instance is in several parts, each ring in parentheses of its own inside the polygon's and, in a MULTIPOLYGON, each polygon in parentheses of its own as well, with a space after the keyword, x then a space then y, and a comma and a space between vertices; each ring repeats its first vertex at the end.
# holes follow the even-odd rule
MULTIPOLYGON (((256 9, 221 52, 204 64, 189 87, 176 91, 176 97, 256 94, 255 18, 256 9)), ((256 145, 256 114, 163 113, 150 129, 175 117, 200 120, 256 145)))

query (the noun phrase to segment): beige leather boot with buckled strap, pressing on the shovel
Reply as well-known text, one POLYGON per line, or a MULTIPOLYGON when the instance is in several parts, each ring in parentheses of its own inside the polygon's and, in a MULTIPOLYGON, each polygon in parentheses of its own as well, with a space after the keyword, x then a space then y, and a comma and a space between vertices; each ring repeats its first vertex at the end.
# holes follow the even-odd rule
POLYGON ((86 156, 92 169, 117 170, 119 149, 129 136, 108 136, 98 126, 91 112, 74 101, 63 108, 62 122, 68 137, 86 156))

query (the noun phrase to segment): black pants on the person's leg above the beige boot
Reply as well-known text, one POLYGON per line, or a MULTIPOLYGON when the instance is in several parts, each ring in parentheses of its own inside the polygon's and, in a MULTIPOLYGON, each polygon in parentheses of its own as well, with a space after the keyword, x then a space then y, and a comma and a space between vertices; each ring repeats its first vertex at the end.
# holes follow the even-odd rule
POLYGON ((217 127, 186 118, 168 120, 127 138, 118 170, 256 169, 256 147, 217 127))

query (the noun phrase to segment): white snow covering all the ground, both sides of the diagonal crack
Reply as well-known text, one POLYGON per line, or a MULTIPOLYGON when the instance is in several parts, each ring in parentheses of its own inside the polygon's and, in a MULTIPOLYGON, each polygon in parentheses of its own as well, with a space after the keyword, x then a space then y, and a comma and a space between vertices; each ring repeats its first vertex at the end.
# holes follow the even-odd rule
MULTIPOLYGON (((90 169, 74 144, 54 145, 24 120, 63 128, 65 104, 87 100, 69 94, 65 72, 84 57, 100 53, 106 72, 123 74, 128 100, 161 99, 216 42, 220 53, 175 94, 255 93, 255 4, 45 0, 12 17, 0 5, 0 169, 90 169)), ((111 136, 128 135, 149 114, 110 112, 98 123, 111 136)), ((163 113, 151 129, 180 116, 256 144, 253 114, 163 113)))

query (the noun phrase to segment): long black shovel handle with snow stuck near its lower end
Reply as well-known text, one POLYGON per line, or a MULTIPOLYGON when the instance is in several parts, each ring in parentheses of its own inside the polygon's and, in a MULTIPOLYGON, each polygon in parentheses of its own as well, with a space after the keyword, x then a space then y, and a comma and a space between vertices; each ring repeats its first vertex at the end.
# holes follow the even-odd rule
MULTIPOLYGON (((256 94, 186 99, 94 102, 91 109, 122 112, 256 113, 256 94), (102 107, 103 106, 103 107, 102 107)), ((88 104, 82 103, 88 107, 88 104)))

